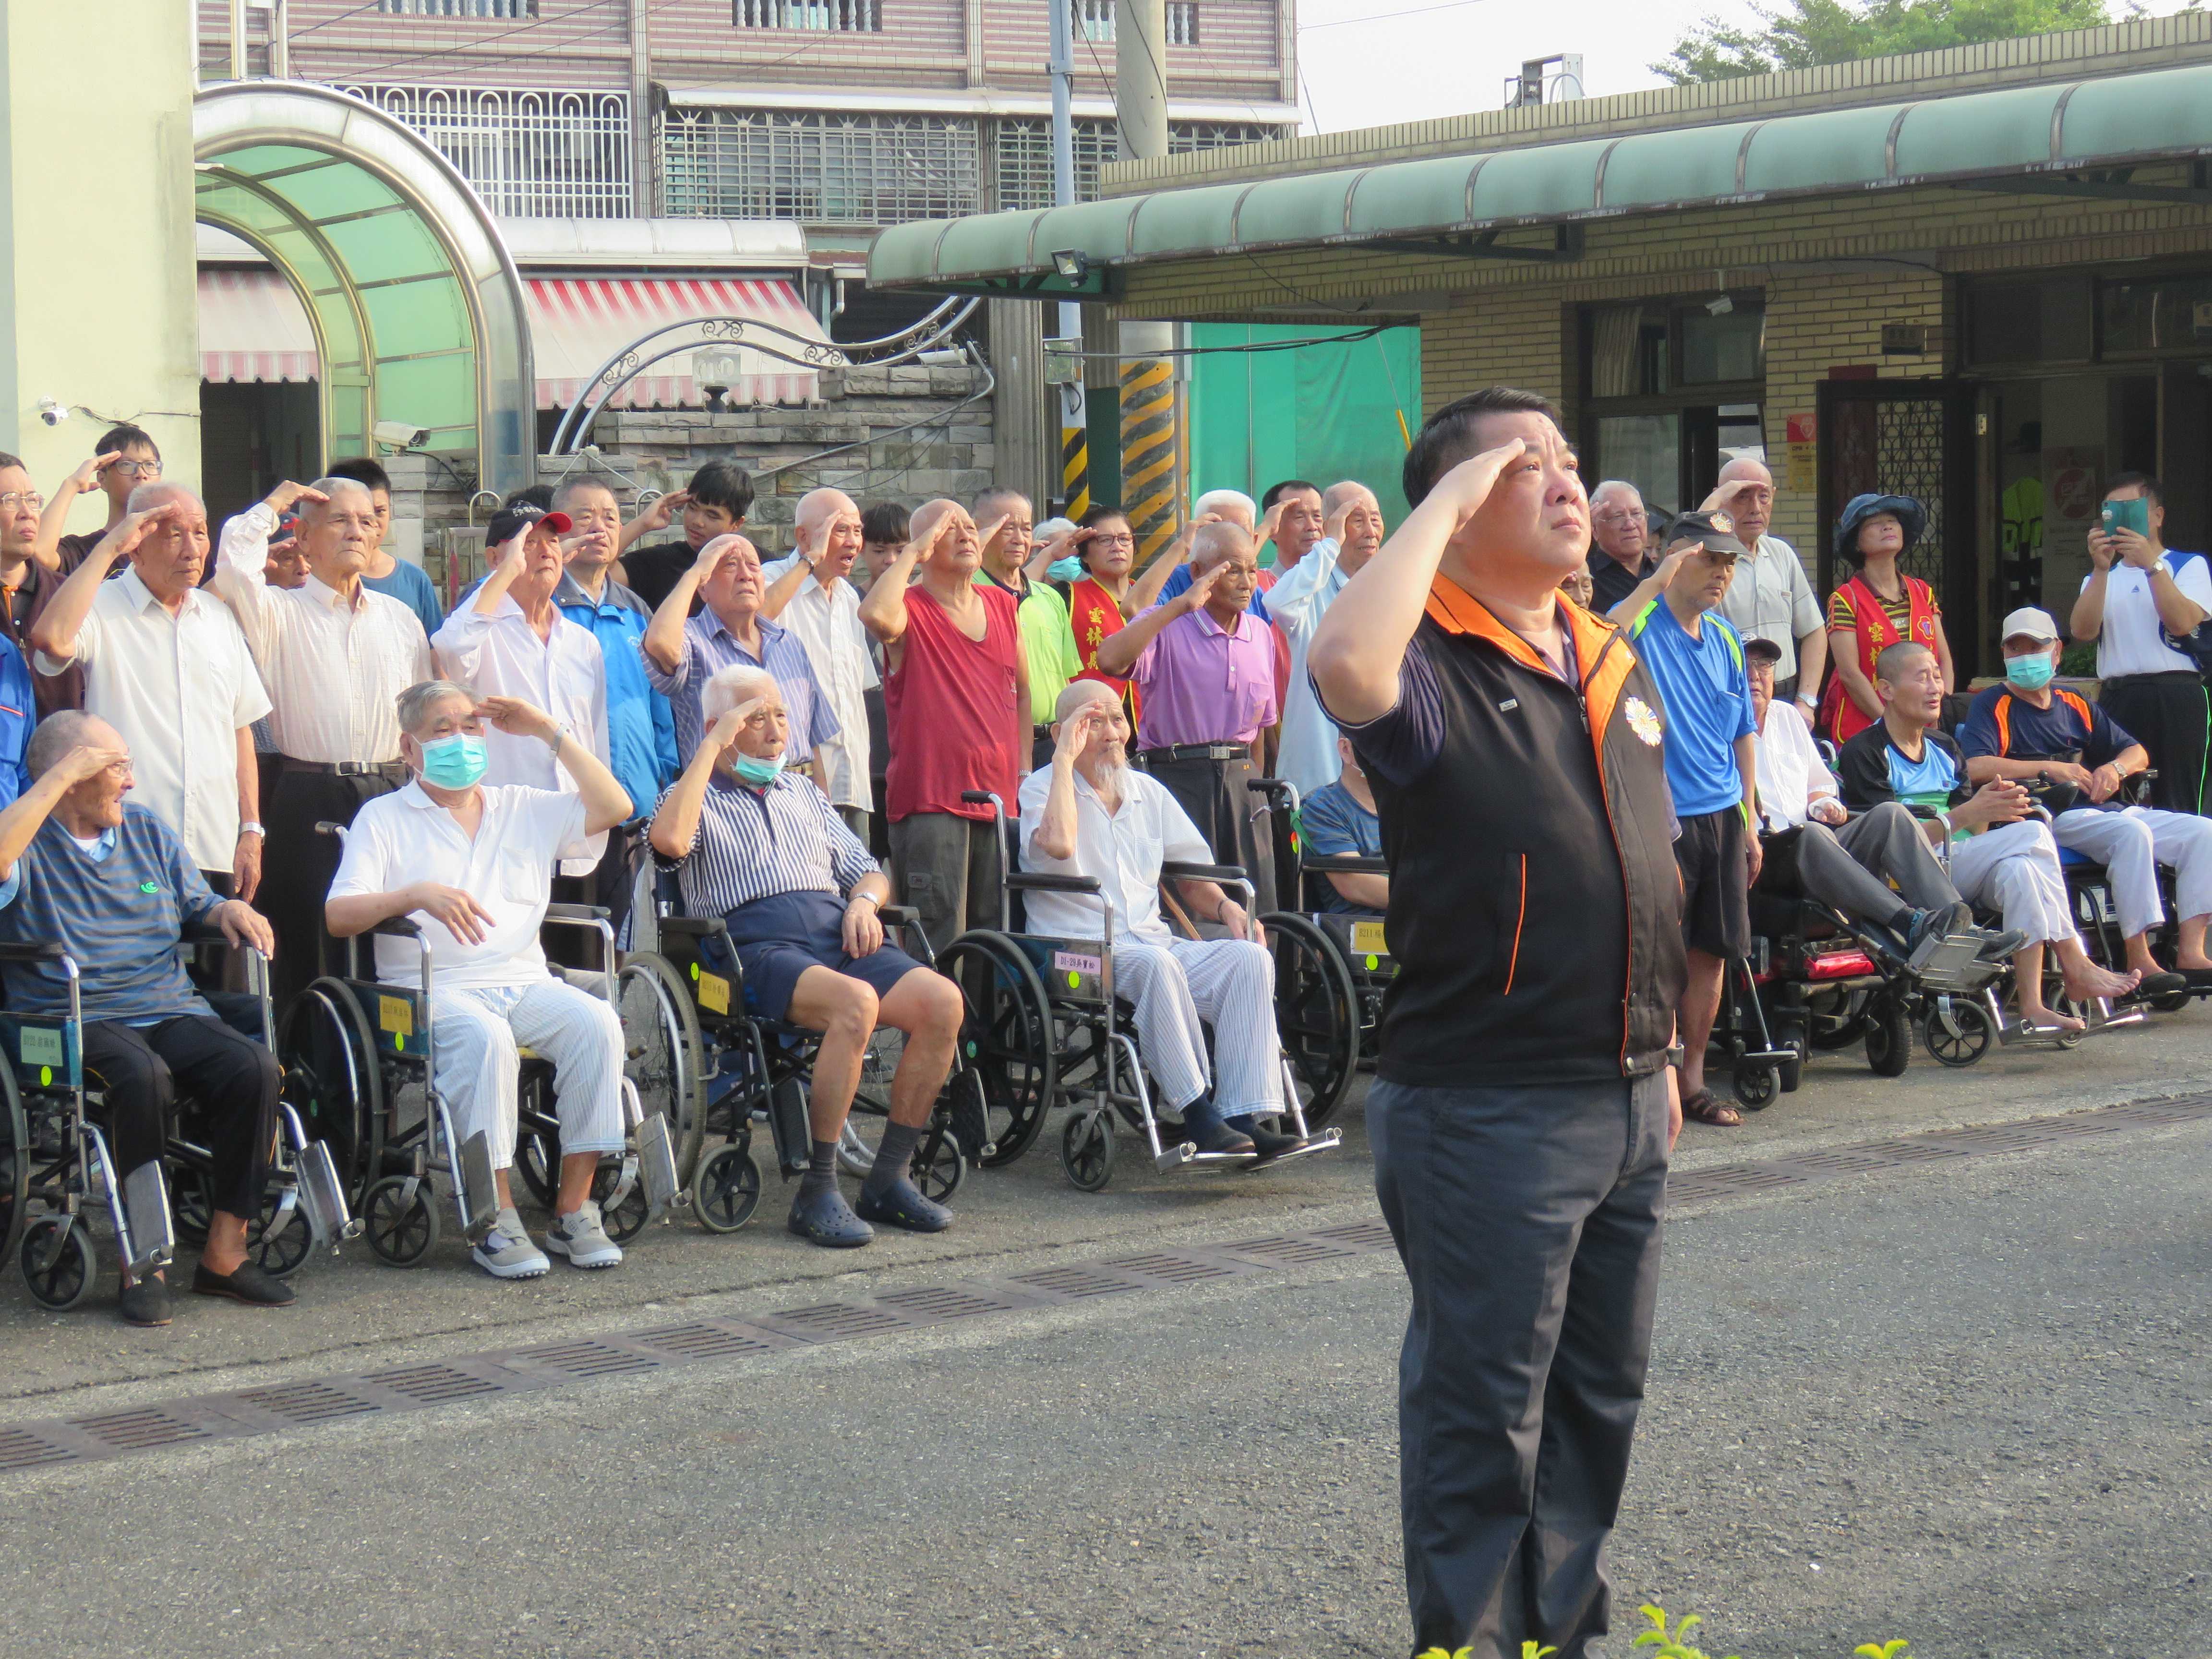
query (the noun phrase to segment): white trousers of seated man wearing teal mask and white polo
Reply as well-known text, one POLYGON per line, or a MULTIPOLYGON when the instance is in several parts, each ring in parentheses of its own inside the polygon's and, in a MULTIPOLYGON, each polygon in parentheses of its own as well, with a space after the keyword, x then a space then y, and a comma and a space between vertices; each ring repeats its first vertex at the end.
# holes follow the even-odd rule
POLYGON ((515 1161, 518 1044, 553 1062, 562 1157, 622 1150, 622 1020, 606 1002, 546 978, 529 989, 438 991, 431 1018, 438 1093, 453 1108, 453 1133, 467 1141, 484 1130, 491 1168, 515 1161))

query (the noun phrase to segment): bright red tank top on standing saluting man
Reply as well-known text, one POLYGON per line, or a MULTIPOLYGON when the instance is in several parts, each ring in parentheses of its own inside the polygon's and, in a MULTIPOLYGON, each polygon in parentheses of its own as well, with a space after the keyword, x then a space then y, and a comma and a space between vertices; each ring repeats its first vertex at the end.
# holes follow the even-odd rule
POLYGON ((982 639, 960 633, 929 588, 907 588, 898 668, 883 681, 891 737, 883 792, 891 823, 909 812, 989 821, 991 807, 962 803, 962 790, 989 790, 1009 814, 1018 812, 1029 710, 1015 708, 1015 599, 1004 588, 975 595, 984 604, 982 639))

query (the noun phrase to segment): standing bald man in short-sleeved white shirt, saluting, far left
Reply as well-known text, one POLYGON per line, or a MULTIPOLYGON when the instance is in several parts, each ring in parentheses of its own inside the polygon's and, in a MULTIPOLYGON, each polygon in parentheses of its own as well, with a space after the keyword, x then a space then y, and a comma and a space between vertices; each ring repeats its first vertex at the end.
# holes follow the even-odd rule
POLYGON ((208 509, 184 484, 139 484, 31 624, 33 666, 84 672, 84 708, 137 757, 131 801, 177 832, 208 885, 261 885, 254 721, 270 712, 237 617, 199 586, 208 509), (115 582, 117 560, 128 566, 115 582))

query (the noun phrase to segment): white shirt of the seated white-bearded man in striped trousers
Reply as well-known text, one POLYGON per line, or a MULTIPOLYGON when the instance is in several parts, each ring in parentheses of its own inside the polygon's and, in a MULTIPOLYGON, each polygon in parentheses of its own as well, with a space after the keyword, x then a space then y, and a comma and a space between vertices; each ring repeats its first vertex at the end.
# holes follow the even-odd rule
MULTIPOLYGON (((1312 557, 1312 553, 1307 553, 1312 557)), ((1121 810, 1106 816, 1091 781, 1075 774, 1075 856, 1046 858, 1037 852, 1044 799, 1053 792, 1053 768, 1040 765, 1022 779, 1022 869, 1046 876, 1097 876, 1113 900, 1113 936, 1170 938, 1159 918, 1161 863, 1210 865, 1214 849, 1190 823, 1190 814, 1166 785, 1135 768, 1121 772, 1121 810)), ((1022 894, 1029 931, 1071 938, 1102 938, 1099 900, 1091 894, 1022 894)))

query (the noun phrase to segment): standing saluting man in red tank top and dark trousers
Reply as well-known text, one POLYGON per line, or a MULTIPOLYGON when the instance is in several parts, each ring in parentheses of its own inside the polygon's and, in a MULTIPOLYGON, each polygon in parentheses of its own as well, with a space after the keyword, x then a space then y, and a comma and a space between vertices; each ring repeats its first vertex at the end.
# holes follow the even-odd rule
POLYGON ((998 925, 1004 843, 989 805, 1011 812, 1029 759, 1029 666, 1013 595, 975 586, 982 535, 960 502, 925 502, 907 544, 860 599, 883 641, 891 737, 885 816, 891 878, 922 914, 929 949, 962 927, 998 925), (918 575, 916 575, 918 573, 918 575))

